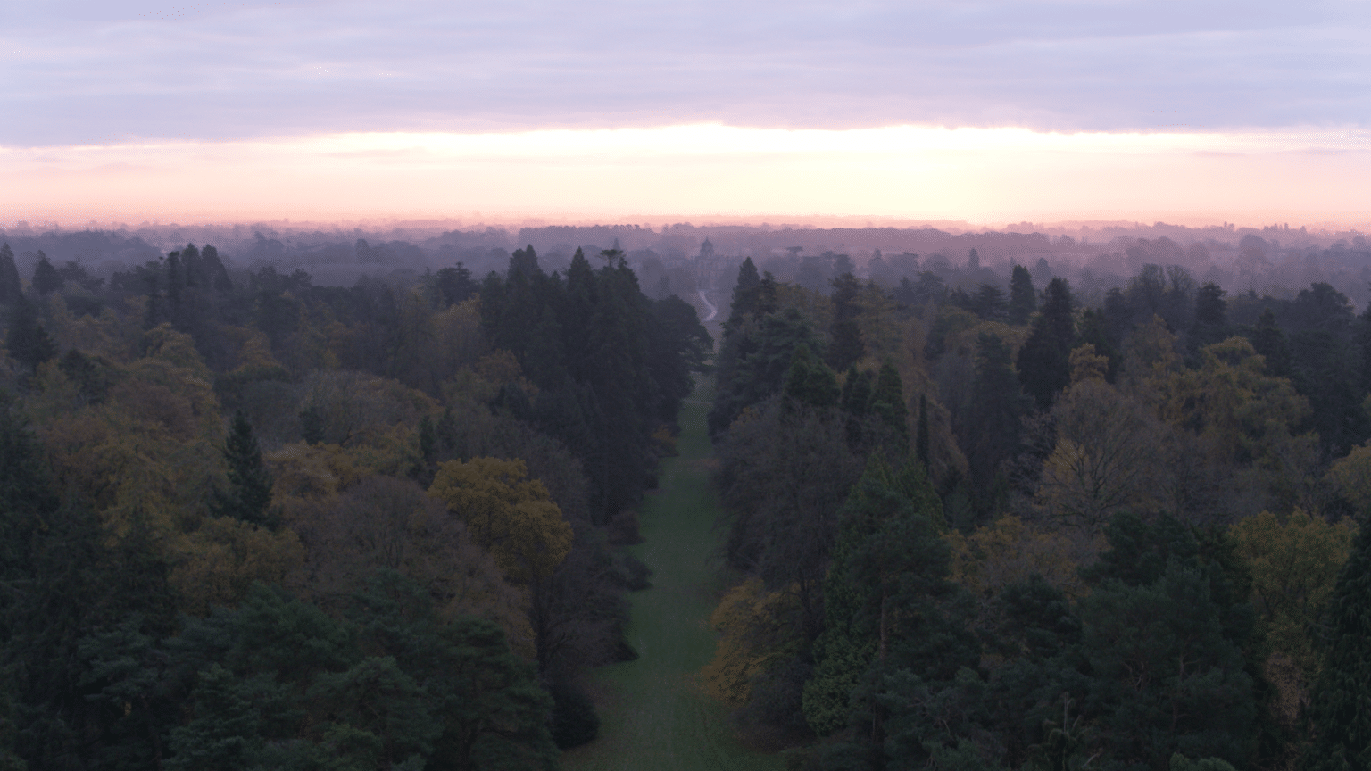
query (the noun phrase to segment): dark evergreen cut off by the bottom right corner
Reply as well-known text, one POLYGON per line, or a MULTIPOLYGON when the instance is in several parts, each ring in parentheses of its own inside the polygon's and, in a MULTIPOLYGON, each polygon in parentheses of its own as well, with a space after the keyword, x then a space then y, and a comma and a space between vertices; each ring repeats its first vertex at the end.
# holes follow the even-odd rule
POLYGON ((1371 768, 1371 521, 1363 519, 1328 602, 1323 669, 1313 683, 1307 771, 1371 768))

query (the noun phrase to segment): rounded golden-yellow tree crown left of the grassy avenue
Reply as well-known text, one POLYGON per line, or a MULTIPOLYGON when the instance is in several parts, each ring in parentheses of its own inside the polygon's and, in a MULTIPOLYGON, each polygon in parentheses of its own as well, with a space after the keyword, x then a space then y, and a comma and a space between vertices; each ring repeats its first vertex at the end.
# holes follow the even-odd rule
POLYGON ((515 583, 551 575, 572 550, 572 525, 547 487, 526 476, 521 460, 447 461, 429 487, 515 583))

